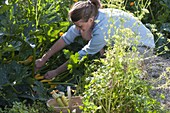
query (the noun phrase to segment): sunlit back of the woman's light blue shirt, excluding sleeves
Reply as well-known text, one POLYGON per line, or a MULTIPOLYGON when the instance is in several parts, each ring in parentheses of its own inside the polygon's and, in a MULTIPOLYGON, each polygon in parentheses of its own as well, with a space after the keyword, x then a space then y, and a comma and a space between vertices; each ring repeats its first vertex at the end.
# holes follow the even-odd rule
MULTIPOLYGON (((115 34, 116 29, 129 28, 135 35, 140 36, 139 46, 148 46, 154 48, 154 37, 148 28, 146 28, 141 21, 139 21, 132 14, 119 9, 99 9, 99 15, 96 19, 98 21, 96 26, 107 26, 104 31, 111 29, 111 36, 115 34), (108 25, 107 25, 108 24, 108 25), (110 28, 109 28, 110 27, 110 28)), ((126 33, 125 33, 126 34, 126 33)))

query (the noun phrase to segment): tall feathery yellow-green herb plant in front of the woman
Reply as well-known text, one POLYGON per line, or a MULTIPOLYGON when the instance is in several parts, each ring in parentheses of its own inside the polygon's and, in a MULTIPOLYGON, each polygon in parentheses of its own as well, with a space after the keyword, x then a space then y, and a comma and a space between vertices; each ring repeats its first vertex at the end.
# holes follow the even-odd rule
POLYGON ((115 29, 108 40, 106 58, 86 67, 83 93, 85 113, 159 113, 160 103, 149 93, 151 87, 142 79, 142 59, 137 51, 138 36, 127 28, 115 29), (132 38, 133 37, 133 41, 132 38), (111 41, 114 41, 114 47, 111 41), (130 46, 133 44, 134 46, 130 46))

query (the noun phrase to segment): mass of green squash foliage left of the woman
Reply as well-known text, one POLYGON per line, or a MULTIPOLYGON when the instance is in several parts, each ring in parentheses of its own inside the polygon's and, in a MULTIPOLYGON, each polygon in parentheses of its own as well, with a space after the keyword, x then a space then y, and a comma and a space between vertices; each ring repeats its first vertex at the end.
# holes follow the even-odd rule
MULTIPOLYGON (((34 61, 60 37, 60 32, 67 30, 70 23, 66 18, 71 4, 67 0, 9 0, 1 3, 0 76, 3 79, 0 81, 0 106, 11 106, 14 101, 25 99, 29 102, 48 99, 44 84, 34 79, 34 61), (34 57, 32 63, 18 63, 30 55, 34 57)), ((59 53, 55 62, 62 62, 59 56, 63 55, 59 53)), ((43 71, 54 68, 48 66, 43 71)))

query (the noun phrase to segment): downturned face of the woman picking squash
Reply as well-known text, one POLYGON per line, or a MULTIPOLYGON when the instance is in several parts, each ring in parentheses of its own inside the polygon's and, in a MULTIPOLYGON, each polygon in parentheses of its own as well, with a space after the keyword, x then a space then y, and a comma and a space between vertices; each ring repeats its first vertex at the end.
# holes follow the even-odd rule
POLYGON ((93 18, 89 18, 87 22, 84 22, 82 19, 77 22, 74 22, 74 24, 76 25, 76 28, 82 32, 89 31, 91 27, 93 26, 93 23, 94 23, 93 18))

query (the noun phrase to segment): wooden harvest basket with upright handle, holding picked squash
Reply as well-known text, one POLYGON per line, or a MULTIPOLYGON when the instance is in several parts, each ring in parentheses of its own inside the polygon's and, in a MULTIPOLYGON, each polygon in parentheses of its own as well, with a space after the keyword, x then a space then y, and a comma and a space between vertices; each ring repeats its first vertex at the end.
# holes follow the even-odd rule
POLYGON ((47 101, 47 106, 48 107, 53 107, 55 110, 55 113, 81 113, 81 110, 79 109, 79 106, 82 106, 82 97, 81 96, 72 96, 69 88, 67 88, 67 93, 68 93, 68 99, 69 99, 69 105, 66 107, 59 107, 58 103, 56 102, 55 99, 49 99, 47 101))

